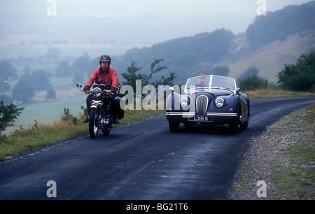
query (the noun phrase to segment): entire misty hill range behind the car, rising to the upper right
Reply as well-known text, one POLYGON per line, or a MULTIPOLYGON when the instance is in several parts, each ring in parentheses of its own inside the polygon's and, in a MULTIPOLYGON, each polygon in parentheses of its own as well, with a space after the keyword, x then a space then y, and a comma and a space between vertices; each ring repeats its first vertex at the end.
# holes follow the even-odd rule
MULTIPOLYGON (((228 76, 238 78, 248 67, 256 67, 259 76, 277 82, 276 73, 283 64, 294 64, 302 53, 315 48, 315 1, 301 6, 288 6, 266 16, 256 17, 246 34, 234 35, 217 29, 153 45, 133 48, 115 59, 119 71, 126 71, 131 61, 138 62, 140 73, 148 73, 155 59, 165 59, 169 69, 159 75, 178 76, 176 84, 190 76, 211 74, 218 66, 230 69, 228 76), (263 29, 263 31, 262 31, 263 29)), ((156 76, 156 78, 159 78, 156 76)))

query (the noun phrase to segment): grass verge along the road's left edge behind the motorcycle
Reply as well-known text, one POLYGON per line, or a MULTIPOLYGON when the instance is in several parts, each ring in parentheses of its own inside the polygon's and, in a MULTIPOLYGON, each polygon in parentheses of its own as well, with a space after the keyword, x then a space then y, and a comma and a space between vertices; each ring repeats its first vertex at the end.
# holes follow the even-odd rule
MULTIPOLYGON (((164 112, 164 110, 126 110, 125 118, 120 120, 119 125, 115 124, 113 127, 119 127, 123 124, 164 112)), ((0 161, 21 155, 30 150, 36 150, 43 145, 63 141, 88 132, 87 124, 83 123, 83 118, 85 117, 83 113, 76 118, 76 122, 73 122, 72 116, 67 117, 69 115, 64 115, 61 118, 62 120, 53 124, 38 123, 35 120, 31 127, 16 129, 6 138, 2 138, 0 140, 0 161)))

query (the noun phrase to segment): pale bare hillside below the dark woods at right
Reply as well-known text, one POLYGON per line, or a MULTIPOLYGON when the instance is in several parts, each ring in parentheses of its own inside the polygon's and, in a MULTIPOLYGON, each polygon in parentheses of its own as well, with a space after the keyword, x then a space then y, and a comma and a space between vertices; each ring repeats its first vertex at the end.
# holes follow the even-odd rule
POLYGON ((281 71, 283 64, 295 64, 297 58, 311 48, 315 48, 315 31, 291 35, 286 41, 274 41, 257 50, 239 50, 222 57, 214 67, 228 66, 229 76, 238 78, 248 67, 255 66, 260 71, 259 76, 267 78, 270 83, 276 83, 276 74, 281 71))

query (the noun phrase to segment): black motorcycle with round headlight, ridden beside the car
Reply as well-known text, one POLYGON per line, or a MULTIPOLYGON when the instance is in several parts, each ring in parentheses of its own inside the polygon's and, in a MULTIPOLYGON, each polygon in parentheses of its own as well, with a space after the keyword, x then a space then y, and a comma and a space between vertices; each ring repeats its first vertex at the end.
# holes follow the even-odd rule
MULTIPOLYGON (((82 87, 80 83, 76 83, 76 87, 83 92, 83 90, 80 89, 82 87)), ((99 129, 102 130, 103 134, 109 135, 111 133, 111 129, 113 128, 114 117, 116 116, 113 114, 113 110, 115 108, 111 97, 113 92, 111 92, 111 90, 106 90, 105 88, 104 84, 94 83, 90 91, 85 91, 85 94, 92 93, 89 121, 90 138, 96 138, 99 133, 99 129)), ((118 106, 120 106, 120 101, 125 96, 125 94, 120 94, 119 92, 120 87, 117 87, 116 104, 118 106)), ((125 116, 125 110, 118 107, 116 108, 116 111, 118 119, 123 119, 125 116)))

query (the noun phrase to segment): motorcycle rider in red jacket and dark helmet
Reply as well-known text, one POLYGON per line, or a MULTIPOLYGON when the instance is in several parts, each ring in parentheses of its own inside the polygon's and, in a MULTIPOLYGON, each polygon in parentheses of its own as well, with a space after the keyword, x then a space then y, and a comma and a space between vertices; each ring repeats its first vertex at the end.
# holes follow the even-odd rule
MULTIPOLYGON (((113 101, 113 116, 114 116, 114 123, 119 124, 118 115, 116 108, 116 96, 114 95, 116 93, 116 87, 118 87, 118 74, 117 71, 113 68, 111 68, 111 57, 109 55, 102 55, 99 58, 99 65, 97 69, 95 69, 92 72, 92 75, 87 80, 87 83, 85 84, 83 91, 90 91, 90 88, 92 87, 93 83, 101 84, 103 83, 106 86, 106 90, 111 90, 113 94, 111 94, 111 100, 113 101)), ((87 96, 86 99, 86 106, 87 106, 87 116, 83 120, 83 122, 89 122, 90 120, 90 103, 92 101, 92 93, 90 93, 87 96)))

